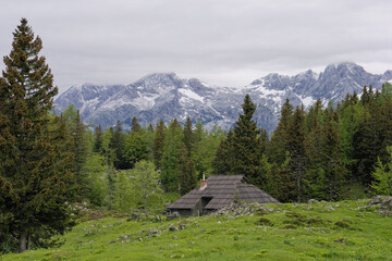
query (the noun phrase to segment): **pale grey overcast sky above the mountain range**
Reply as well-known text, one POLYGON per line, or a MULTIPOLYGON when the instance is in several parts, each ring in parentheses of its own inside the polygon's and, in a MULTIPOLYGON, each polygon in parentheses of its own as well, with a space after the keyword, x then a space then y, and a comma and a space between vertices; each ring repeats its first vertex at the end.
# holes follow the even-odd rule
POLYGON ((243 87, 342 61, 392 70, 391 0, 8 0, 1 57, 21 17, 41 37, 61 92, 164 72, 243 87))

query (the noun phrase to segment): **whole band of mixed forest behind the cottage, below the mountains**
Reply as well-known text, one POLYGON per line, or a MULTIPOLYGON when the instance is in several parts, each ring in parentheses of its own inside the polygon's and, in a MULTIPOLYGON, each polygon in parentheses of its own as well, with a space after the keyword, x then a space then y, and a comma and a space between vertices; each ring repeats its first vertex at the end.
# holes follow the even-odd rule
POLYGON ((133 183, 120 171, 140 161, 151 164, 167 192, 188 192, 203 174, 244 174, 282 202, 303 202, 355 198, 376 188, 376 163, 387 164, 390 158, 391 102, 390 84, 381 91, 364 87, 360 97, 347 95, 335 107, 323 108, 318 100, 307 112, 287 99, 271 137, 253 120, 256 105, 248 95, 228 133, 217 126, 208 132, 200 122, 194 126, 189 117, 184 126, 174 119, 168 126, 160 121, 142 127, 134 117, 130 132, 120 121, 106 132, 100 126, 91 130, 73 105, 62 120, 74 135, 79 196, 97 206, 121 211, 144 206, 139 197, 119 202, 130 187, 124 183, 133 183))

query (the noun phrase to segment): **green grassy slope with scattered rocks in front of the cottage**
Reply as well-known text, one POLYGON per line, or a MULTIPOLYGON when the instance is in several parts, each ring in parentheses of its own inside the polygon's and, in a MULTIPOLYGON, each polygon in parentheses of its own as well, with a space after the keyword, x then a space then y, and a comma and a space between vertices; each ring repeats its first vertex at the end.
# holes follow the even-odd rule
POLYGON ((235 219, 105 217, 74 227, 58 249, 7 254, 0 260, 392 260, 392 217, 357 209, 367 204, 359 200, 268 206, 274 209, 270 213, 235 219), (186 225, 184 229, 168 229, 180 224, 186 225), (140 233, 149 228, 161 235, 140 233))

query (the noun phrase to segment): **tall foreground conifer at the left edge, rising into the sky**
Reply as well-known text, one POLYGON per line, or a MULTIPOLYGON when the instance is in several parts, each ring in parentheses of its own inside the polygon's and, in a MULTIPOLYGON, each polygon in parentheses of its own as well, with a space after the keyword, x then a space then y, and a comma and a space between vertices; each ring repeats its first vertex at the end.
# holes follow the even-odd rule
POLYGON ((53 76, 42 42, 22 18, 0 78, 0 234, 19 238, 19 250, 70 225, 72 156, 63 150, 66 127, 51 119, 53 76))

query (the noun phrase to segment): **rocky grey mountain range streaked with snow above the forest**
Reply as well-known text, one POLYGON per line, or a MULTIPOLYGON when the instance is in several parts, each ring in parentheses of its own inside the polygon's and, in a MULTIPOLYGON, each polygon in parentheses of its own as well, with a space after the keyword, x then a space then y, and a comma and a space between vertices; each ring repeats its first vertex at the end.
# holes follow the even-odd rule
POLYGON ((355 63, 332 64, 319 75, 310 70, 294 76, 269 74, 241 89, 182 79, 174 73, 151 74, 130 85, 74 86, 58 97, 54 104, 57 111, 74 104, 85 123, 105 128, 120 120, 127 129, 133 116, 142 125, 155 125, 160 119, 169 123, 174 117, 184 123, 191 116, 207 128, 218 124, 229 129, 238 117, 245 94, 249 94, 257 105, 255 120, 271 133, 286 98, 293 105, 305 108, 317 99, 336 103, 346 94, 360 94, 365 85, 381 88, 391 79, 392 71, 373 75, 355 63))

